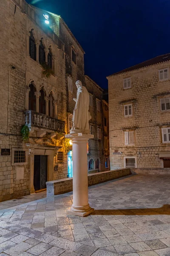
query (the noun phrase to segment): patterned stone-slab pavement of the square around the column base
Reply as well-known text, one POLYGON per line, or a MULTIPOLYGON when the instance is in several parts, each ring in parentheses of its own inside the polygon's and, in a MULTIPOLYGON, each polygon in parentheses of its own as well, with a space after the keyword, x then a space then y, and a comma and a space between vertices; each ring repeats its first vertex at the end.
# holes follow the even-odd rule
POLYGON ((89 187, 93 215, 66 214, 72 193, 0 211, 0 256, 170 256, 170 176, 89 187))

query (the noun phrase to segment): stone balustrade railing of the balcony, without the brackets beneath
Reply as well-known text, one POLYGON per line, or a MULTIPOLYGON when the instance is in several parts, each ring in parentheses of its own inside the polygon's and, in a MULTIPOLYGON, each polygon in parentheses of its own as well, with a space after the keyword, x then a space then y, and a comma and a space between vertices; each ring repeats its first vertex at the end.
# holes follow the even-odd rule
POLYGON ((24 111, 25 113, 25 125, 31 128, 31 126, 45 128, 56 132, 65 133, 65 122, 55 119, 51 116, 47 116, 42 113, 37 113, 32 110, 24 111))

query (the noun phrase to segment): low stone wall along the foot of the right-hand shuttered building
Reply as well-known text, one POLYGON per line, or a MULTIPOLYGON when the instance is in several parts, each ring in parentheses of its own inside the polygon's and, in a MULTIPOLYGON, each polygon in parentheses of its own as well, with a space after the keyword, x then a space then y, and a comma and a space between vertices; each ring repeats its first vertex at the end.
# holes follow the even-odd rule
POLYGON ((170 168, 134 168, 130 169, 132 174, 143 174, 143 175, 170 175, 170 168))

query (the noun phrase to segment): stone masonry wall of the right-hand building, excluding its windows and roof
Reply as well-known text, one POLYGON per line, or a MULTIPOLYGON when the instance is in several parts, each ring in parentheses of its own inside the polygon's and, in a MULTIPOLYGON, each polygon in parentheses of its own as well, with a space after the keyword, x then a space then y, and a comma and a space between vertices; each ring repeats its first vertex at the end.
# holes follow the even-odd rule
POLYGON ((160 97, 170 94, 170 81, 159 81, 159 70, 170 61, 108 77, 111 169, 123 168, 125 157, 136 157, 138 168, 161 168, 161 127, 170 126, 170 112, 160 110, 160 97), (123 89, 131 77, 132 87, 123 89), (124 116, 124 104, 133 105, 133 116, 124 116), (134 145, 125 145, 125 131, 134 132, 134 145))

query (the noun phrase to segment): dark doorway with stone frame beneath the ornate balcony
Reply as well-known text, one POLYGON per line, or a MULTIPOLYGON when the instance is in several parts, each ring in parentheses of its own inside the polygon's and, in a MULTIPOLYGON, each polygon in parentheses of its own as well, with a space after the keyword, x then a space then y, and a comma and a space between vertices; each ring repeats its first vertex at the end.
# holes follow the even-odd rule
POLYGON ((46 188, 48 156, 34 155, 34 189, 46 188))

